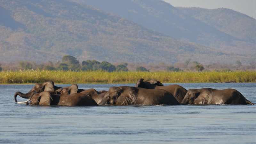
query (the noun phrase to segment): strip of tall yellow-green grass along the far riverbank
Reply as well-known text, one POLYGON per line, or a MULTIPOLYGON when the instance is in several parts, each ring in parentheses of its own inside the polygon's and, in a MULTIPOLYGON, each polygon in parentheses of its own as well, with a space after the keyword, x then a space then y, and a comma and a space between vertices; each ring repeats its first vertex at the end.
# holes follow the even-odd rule
POLYGON ((256 82, 256 71, 206 72, 106 72, 106 71, 2 71, 0 84, 29 84, 53 81, 56 84, 131 84, 140 78, 162 83, 256 82))

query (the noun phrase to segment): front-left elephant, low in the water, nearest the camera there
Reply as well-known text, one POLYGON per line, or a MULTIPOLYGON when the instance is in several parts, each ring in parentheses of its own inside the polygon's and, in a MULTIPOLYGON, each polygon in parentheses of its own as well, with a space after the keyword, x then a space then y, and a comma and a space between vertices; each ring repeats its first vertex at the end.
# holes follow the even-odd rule
POLYGON ((57 91, 35 93, 30 100, 30 105, 98 106, 95 100, 83 93, 69 95, 58 93, 57 91))

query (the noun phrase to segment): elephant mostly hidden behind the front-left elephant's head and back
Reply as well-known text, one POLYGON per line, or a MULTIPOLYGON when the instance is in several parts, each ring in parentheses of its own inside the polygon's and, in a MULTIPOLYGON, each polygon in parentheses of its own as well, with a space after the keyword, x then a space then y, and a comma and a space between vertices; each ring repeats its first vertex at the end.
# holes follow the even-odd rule
POLYGON ((103 99, 104 95, 107 93, 107 91, 96 91, 95 89, 78 89, 77 84, 72 84, 69 87, 64 87, 60 91, 61 94, 73 94, 73 93, 83 93, 83 94, 89 94, 92 96, 92 99, 95 100, 98 104, 100 104, 101 100, 103 99))

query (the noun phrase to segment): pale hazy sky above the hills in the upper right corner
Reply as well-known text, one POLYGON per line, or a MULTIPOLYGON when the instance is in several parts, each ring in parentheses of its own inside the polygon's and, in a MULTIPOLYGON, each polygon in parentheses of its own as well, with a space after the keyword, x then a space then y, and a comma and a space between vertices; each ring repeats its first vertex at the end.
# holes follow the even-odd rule
POLYGON ((228 8, 255 19, 256 0, 163 0, 175 7, 228 8))

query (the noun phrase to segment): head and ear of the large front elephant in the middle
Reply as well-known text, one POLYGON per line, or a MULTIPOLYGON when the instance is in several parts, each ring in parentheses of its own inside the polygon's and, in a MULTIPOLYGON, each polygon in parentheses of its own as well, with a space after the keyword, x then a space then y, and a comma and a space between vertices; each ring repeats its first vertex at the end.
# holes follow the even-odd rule
MULTIPOLYGON (((104 96, 104 100, 100 102, 101 105, 105 104, 117 104, 117 105, 130 105, 137 99, 138 90, 123 87, 110 87, 108 92, 104 96)), ((99 105, 100 105, 99 104, 99 105)))

